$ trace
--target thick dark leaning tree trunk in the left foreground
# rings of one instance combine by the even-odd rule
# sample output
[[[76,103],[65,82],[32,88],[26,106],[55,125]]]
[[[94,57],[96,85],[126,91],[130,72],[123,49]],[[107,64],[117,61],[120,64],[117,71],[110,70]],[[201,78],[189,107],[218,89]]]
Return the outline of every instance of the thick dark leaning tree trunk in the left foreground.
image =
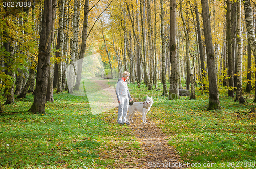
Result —
[[[36,89],[34,103],[28,110],[30,112],[45,113],[46,91],[50,70],[52,33],[56,15],[56,0],[44,2],[42,14],[42,31],[40,34],[38,66],[36,76]]]

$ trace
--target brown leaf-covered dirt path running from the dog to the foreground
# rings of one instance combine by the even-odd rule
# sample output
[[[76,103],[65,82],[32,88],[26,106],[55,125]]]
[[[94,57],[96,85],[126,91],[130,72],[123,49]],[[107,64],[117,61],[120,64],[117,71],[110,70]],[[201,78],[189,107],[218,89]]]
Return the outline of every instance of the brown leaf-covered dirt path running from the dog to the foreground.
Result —
[[[183,161],[180,160],[176,150],[168,145],[168,137],[153,121],[147,118],[147,123],[142,124],[140,113],[136,113],[133,120],[135,123],[131,123],[130,127],[146,154],[140,159],[143,164],[139,168],[184,168],[179,166],[179,162],[182,164]]]

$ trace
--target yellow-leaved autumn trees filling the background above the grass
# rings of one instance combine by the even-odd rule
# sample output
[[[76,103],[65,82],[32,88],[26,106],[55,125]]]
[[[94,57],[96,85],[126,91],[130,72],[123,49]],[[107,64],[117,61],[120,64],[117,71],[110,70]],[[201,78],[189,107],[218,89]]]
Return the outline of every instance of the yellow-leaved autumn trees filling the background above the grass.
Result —
[[[53,101],[52,87],[57,88],[57,93],[79,90],[82,60],[95,53],[100,54],[105,71],[98,69],[92,73],[94,76],[117,78],[122,71],[130,71],[129,82],[139,87],[143,81],[149,90],[157,89],[157,80],[161,80],[163,95],[169,95],[169,99],[178,98],[178,88],[189,90],[190,86],[191,99],[195,99],[195,85],[198,92],[211,95],[214,91],[216,100],[218,86],[225,86],[228,96],[234,96],[238,88],[241,94],[237,94],[236,100],[239,100],[240,83],[246,92],[255,86],[255,61],[248,45],[244,6],[238,2],[209,1],[210,23],[205,24],[201,3],[197,1],[180,1],[175,8],[170,8],[172,2],[169,1],[53,1],[56,5],[52,11],[45,10],[45,17],[52,19],[46,21],[43,20],[43,1],[32,1],[29,7],[8,7],[7,4],[1,10],[1,84],[5,89],[5,104],[14,102],[14,94],[24,98],[27,92],[34,92],[36,76],[44,81],[42,86],[38,85],[41,90],[35,92],[35,100],[40,100],[42,105],[44,99],[36,98]],[[253,1],[251,6],[253,18],[250,19],[255,26]],[[44,22],[49,22],[48,27]],[[207,56],[203,28],[207,24],[211,31],[205,32],[211,32],[212,38],[206,39],[212,39],[214,50],[210,56]],[[47,59],[43,59],[42,64],[40,55]],[[215,64],[214,67],[207,65],[207,57],[214,59],[209,63]],[[49,65],[42,71],[43,75],[37,71],[38,65],[46,64]],[[90,65],[87,68],[90,69]],[[215,69],[215,73],[209,74],[209,69]],[[217,77],[212,79],[215,74]],[[173,88],[169,94],[166,80]],[[182,86],[183,80],[186,84]],[[213,91],[208,90],[209,87]],[[37,110],[34,106],[30,111],[44,112],[44,106]],[[209,109],[216,107],[209,106]]]

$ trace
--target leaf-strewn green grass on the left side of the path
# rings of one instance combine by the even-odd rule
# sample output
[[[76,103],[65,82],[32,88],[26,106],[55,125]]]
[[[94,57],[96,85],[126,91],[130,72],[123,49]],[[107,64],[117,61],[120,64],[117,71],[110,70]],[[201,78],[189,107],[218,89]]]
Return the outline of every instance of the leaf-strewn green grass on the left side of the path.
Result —
[[[54,94],[46,114],[27,113],[33,96],[5,105],[0,116],[1,168],[116,168],[142,154],[117,110],[93,115],[86,96]],[[132,166],[136,161],[129,162]]]

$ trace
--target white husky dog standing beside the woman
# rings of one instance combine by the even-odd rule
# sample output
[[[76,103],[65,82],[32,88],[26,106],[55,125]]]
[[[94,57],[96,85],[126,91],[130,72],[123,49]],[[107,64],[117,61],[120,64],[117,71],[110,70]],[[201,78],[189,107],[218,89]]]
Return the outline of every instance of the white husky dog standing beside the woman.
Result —
[[[136,111],[138,112],[141,112],[142,113],[142,122],[143,123],[146,123],[146,114],[148,111],[150,111],[150,108],[153,104],[153,99],[152,99],[152,96],[151,98],[147,96],[147,99],[145,102],[134,102],[133,105],[129,105],[129,108],[128,108],[128,118],[127,118],[127,121],[129,119],[129,116],[131,115],[131,122],[134,122],[133,121],[133,116],[135,114]]]

